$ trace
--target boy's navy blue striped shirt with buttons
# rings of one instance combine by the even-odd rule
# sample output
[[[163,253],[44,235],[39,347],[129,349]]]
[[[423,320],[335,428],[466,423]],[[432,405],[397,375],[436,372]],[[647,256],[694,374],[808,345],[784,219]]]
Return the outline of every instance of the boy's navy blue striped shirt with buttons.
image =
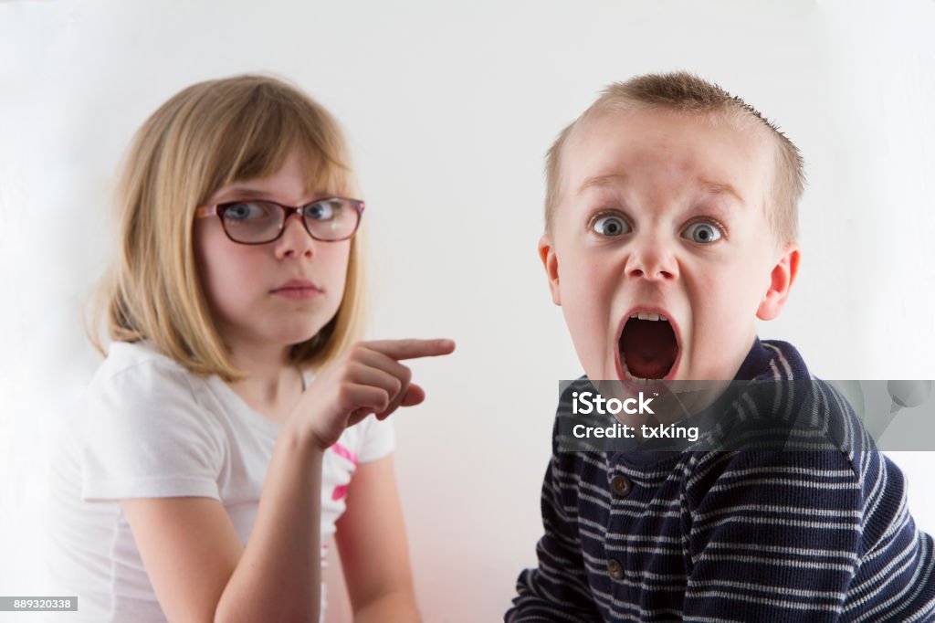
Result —
[[[813,377],[781,341],[755,340],[737,376],[797,379]],[[554,440],[539,567],[520,574],[505,620],[935,620],[932,538],[915,528],[901,471],[835,390],[815,386],[827,419],[846,424],[837,450],[560,452]],[[733,416],[802,408],[783,400],[739,400]]]

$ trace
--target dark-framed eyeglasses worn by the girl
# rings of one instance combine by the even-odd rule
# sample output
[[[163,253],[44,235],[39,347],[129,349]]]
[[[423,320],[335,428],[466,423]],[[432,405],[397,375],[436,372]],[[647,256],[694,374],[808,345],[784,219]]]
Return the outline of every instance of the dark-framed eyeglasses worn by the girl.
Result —
[[[286,220],[298,214],[313,239],[337,242],[354,235],[363,211],[363,201],[340,196],[315,199],[298,208],[267,199],[250,199],[198,208],[194,210],[194,218],[216,214],[227,238],[240,244],[266,244],[279,239]]]

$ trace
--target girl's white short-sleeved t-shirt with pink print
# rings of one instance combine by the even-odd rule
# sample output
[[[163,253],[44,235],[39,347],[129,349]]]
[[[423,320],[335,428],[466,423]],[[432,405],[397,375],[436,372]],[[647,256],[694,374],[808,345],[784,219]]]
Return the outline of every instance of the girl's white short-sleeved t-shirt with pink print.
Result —
[[[165,621],[119,500],[220,500],[246,544],[281,425],[148,342],[112,344],[66,419],[50,454],[49,587],[78,596],[69,620]],[[394,443],[390,423],[371,416],[325,453],[323,563],[356,464]],[[322,596],[324,612],[324,587]]]

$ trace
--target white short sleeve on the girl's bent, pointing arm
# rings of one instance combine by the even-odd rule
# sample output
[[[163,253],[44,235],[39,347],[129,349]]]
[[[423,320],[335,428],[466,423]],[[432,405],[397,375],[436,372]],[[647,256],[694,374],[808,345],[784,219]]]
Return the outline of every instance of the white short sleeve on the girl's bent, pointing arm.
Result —
[[[81,452],[84,500],[220,500],[222,433],[187,375],[169,362],[146,360],[94,379]]]

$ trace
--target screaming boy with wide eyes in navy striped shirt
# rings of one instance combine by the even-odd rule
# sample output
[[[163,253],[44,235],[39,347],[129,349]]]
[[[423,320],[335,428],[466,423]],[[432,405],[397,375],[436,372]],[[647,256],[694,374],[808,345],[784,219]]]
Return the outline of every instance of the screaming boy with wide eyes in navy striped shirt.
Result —
[[[587,379],[812,379],[791,345],[755,333],[798,272],[803,180],[798,149],[712,83],[611,85],[548,154],[539,242]],[[824,415],[853,422],[818,386]],[[734,406],[770,415],[769,403]],[[556,437],[569,411],[566,392]],[[845,432],[850,449],[820,452],[554,441],[539,568],[520,575],[506,620],[931,620],[932,539],[899,470],[862,429]]]

